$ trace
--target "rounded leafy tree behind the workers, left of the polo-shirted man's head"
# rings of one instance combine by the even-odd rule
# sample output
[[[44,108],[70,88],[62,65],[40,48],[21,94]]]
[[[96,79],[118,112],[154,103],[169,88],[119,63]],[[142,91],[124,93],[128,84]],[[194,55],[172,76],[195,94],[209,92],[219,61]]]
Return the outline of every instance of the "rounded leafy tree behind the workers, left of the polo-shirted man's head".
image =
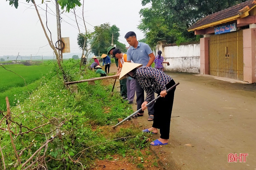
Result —
[[[126,52],[126,45],[118,42],[118,37],[120,36],[119,31],[120,30],[116,25],[110,26],[109,23],[95,26],[92,41],[90,42],[92,46],[91,52],[96,56],[101,56],[102,53],[107,53],[107,48],[111,46],[112,33],[113,43],[116,44],[116,47],[120,48],[122,52]]]

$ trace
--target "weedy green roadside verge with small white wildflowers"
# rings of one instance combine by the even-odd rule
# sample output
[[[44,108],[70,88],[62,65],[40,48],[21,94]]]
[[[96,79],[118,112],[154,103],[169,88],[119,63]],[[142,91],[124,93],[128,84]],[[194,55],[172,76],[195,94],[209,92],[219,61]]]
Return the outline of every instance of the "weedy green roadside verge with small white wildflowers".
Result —
[[[72,80],[80,80],[81,75],[82,79],[99,76],[88,69],[80,72],[78,62],[71,59],[64,63],[63,68]],[[71,90],[65,88],[56,71],[50,71],[37,83],[39,85],[30,96],[25,97],[22,102],[16,101],[15,105],[11,107],[13,115],[18,115],[13,116],[12,120],[22,123],[24,126],[20,129],[20,126],[12,123],[11,130],[14,133],[18,133],[20,130],[25,132],[27,131],[25,126],[33,129],[49,121],[53,123],[35,129],[43,134],[29,132],[22,136],[13,135],[17,150],[27,147],[20,157],[22,162],[30,158],[47,139],[53,138],[52,135],[55,135],[57,131],[60,134],[54,136],[54,140],[48,144],[47,150],[43,148],[39,152],[41,156],[45,154],[47,163],[44,166],[47,166],[48,169],[82,169],[81,164],[74,163],[71,159],[79,159],[83,168],[90,168],[96,159],[112,159],[111,155],[114,154],[124,157],[127,153],[134,152],[134,149],[142,149],[149,145],[145,142],[148,134],[143,134],[132,125],[130,128],[119,127],[119,131],[110,133],[111,126],[118,122],[118,118],[125,118],[133,112],[129,104],[121,102],[119,93],[114,93],[114,96],[111,97],[112,85],[101,85],[101,80],[97,80],[96,85],[88,85],[87,82],[84,82],[71,85],[71,89],[78,90],[77,93],[71,93]],[[15,97],[23,95],[22,92],[17,91],[14,93],[9,91],[9,94],[6,95],[10,98],[13,94],[16,94]],[[0,119],[2,119],[2,115],[0,115]],[[63,123],[61,124],[61,122]],[[61,124],[57,131],[54,130],[55,124]],[[0,127],[5,129],[7,126],[5,122],[2,122]],[[132,137],[111,141],[128,136]],[[1,146],[5,146],[2,148],[2,151],[6,153],[4,155],[5,164],[7,169],[11,169],[17,160],[8,131],[1,130],[0,137],[2,138]],[[61,161],[50,160],[50,158]]]

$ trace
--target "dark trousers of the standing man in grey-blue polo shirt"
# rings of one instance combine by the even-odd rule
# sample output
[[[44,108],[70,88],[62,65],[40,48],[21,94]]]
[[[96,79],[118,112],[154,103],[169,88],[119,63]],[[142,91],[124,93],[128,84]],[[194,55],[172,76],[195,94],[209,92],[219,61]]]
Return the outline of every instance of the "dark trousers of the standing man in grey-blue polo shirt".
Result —
[[[144,90],[138,83],[137,79],[135,79],[135,91],[136,91],[136,97],[137,97],[136,98],[137,110],[139,110],[141,108],[141,104],[145,101],[145,98],[144,98]],[[152,95],[151,100],[153,100],[153,99],[155,99],[154,93]],[[140,113],[144,113],[144,111],[141,111]],[[148,114],[154,115],[154,103],[148,107]]]

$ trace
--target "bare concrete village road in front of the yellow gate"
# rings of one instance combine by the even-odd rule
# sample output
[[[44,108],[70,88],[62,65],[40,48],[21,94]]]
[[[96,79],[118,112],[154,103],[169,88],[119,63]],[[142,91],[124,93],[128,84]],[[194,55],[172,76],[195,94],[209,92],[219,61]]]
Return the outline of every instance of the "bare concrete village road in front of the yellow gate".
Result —
[[[256,85],[168,74],[180,82],[175,91],[170,143],[153,148],[157,154],[164,153],[166,169],[256,170]],[[143,128],[152,125],[147,114],[135,122]],[[152,137],[157,139],[159,134]],[[249,156],[245,163],[229,163],[230,153]]]

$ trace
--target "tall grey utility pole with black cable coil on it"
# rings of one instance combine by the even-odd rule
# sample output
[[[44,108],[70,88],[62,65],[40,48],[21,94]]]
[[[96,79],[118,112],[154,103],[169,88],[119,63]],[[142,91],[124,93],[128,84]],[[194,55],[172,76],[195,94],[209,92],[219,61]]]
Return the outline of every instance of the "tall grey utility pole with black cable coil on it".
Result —
[[[58,54],[59,54],[59,60],[62,61],[63,63],[63,56],[62,56],[62,43],[61,43],[61,20],[60,20],[60,10],[59,10],[59,3],[56,0],[56,18],[57,18],[57,39],[58,39],[58,43],[57,43],[57,48],[59,48],[58,50]]]

